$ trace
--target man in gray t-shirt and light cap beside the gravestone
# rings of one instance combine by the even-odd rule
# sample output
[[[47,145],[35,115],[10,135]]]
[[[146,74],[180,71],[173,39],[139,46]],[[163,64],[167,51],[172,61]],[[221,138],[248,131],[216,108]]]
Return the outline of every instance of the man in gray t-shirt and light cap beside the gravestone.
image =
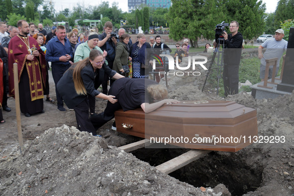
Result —
[[[287,49],[288,41],[283,39],[284,30],[278,29],[275,32],[275,39],[267,39],[263,44],[261,44],[258,48],[258,58],[260,59],[260,79],[262,81],[265,77],[266,70],[266,59],[272,59],[278,57],[277,61],[277,70],[276,76],[278,74],[280,59],[283,55],[283,52]],[[262,54],[262,49],[267,48],[264,54]],[[268,79],[272,78],[273,74],[273,66],[270,66]]]

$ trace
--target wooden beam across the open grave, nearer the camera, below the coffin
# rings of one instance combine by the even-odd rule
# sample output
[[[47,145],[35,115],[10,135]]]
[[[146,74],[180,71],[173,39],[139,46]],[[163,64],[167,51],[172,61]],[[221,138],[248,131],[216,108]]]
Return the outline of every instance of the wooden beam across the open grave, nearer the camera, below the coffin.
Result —
[[[172,160],[169,160],[157,167],[157,170],[161,171],[162,173],[169,174],[177,169],[188,165],[189,163],[195,161],[196,159],[201,158],[205,154],[211,152],[211,150],[190,150]]]

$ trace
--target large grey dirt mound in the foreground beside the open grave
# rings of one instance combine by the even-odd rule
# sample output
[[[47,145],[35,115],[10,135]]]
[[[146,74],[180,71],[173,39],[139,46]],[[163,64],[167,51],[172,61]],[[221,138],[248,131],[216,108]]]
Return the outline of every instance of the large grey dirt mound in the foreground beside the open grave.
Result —
[[[0,195],[206,195],[162,174],[101,137],[64,125],[45,131],[18,157],[1,159]]]

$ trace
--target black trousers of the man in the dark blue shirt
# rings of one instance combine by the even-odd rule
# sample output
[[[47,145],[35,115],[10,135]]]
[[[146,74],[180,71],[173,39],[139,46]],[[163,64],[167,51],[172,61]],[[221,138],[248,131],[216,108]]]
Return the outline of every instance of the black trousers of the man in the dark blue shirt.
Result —
[[[58,90],[57,90],[57,83],[63,76],[64,72],[68,70],[68,68],[71,67],[71,64],[68,64],[66,66],[63,65],[57,65],[57,64],[51,64],[52,68],[52,76],[55,83],[55,92],[56,92],[56,99],[57,99],[57,107],[63,107],[63,99],[60,96]]]

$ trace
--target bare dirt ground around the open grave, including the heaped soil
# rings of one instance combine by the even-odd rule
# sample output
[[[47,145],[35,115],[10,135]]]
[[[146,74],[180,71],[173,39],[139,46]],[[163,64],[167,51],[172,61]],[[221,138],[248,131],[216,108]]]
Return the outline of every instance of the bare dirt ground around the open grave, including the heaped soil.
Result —
[[[55,99],[52,79],[50,85],[51,98]],[[209,92],[213,91],[211,88]],[[56,104],[44,101],[45,113],[31,117],[21,114],[24,147],[20,154],[15,103],[9,98],[12,111],[3,111],[6,123],[0,125],[0,195],[294,194],[294,94],[256,100],[242,93],[224,99],[186,85],[169,96],[179,100],[234,100],[255,108],[259,136],[285,136],[285,142],[255,143],[236,153],[213,151],[165,175],[154,166],[179,156],[185,149],[126,153],[116,147],[140,138],[112,131],[112,122],[98,130],[102,137],[80,132],[72,127],[76,126],[74,111],[60,112]],[[96,112],[105,105],[106,101],[97,99]]]

